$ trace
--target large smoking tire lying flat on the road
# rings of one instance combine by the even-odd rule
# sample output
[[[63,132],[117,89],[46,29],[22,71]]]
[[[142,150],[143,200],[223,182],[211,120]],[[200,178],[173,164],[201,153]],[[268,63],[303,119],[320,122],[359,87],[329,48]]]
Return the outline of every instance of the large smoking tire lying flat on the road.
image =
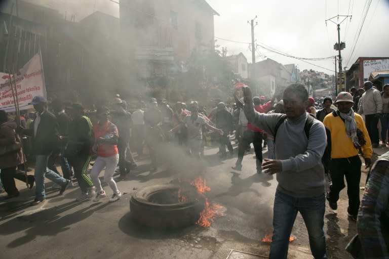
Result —
[[[132,218],[154,228],[180,228],[195,224],[204,199],[191,185],[154,185],[135,192],[130,199]]]

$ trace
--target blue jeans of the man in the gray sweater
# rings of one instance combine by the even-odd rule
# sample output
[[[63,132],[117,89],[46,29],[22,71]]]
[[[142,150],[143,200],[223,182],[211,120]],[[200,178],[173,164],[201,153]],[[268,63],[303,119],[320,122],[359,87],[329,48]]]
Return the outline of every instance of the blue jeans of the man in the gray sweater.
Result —
[[[297,212],[304,219],[308,230],[309,246],[316,259],[327,258],[324,233],[325,194],[319,197],[294,198],[277,190],[274,200],[273,240],[269,258],[287,258],[289,237]]]

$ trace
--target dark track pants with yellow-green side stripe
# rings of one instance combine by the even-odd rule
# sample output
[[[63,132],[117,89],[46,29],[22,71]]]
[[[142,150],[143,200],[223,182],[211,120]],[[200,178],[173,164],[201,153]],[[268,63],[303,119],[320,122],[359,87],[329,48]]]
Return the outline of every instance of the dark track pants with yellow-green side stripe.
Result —
[[[71,157],[68,160],[71,166],[73,166],[74,176],[77,179],[77,183],[79,183],[81,191],[86,193],[88,188],[93,187],[91,179],[86,175],[91,157],[89,155]]]

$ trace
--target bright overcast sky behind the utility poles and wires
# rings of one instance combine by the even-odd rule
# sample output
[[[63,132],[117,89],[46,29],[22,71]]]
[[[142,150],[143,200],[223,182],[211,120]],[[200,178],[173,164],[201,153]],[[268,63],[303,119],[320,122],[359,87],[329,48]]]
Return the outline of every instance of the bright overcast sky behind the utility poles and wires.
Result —
[[[247,20],[258,25],[255,38],[267,46],[284,53],[303,58],[322,58],[337,55],[333,49],[337,41],[336,24],[325,23],[326,19],[339,15],[352,15],[340,25],[340,40],[345,41],[342,51],[343,68],[351,66],[358,57],[389,57],[389,0],[373,0],[354,54],[354,37],[360,26],[366,0],[207,0],[220,14],[215,16],[215,36],[235,41],[251,42],[251,29]],[[348,8],[349,7],[349,8]],[[339,11],[338,11],[339,10]],[[336,22],[337,20],[334,19]],[[339,20],[340,22],[341,20]],[[242,52],[251,63],[248,44],[238,44],[218,39],[217,44],[227,47],[228,55]],[[262,57],[259,57],[262,55]],[[263,57],[282,64],[295,63],[299,69],[314,69],[326,73],[329,70],[315,67],[302,61],[257,48],[256,61]],[[348,61],[348,62],[347,62]],[[331,70],[334,60],[309,61]]]

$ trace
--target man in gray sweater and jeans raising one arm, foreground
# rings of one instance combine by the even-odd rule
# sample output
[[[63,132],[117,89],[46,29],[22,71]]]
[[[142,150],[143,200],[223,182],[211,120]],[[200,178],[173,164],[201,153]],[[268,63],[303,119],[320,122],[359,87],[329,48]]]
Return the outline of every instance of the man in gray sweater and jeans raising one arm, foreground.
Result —
[[[244,108],[248,121],[275,136],[277,159],[265,159],[262,169],[269,175],[277,174],[274,201],[273,240],[269,258],[287,258],[289,237],[297,212],[304,219],[309,245],[315,258],[327,258],[324,233],[325,180],[321,162],[327,144],[325,127],[314,120],[309,137],[304,132],[308,113],[305,112],[308,93],[302,84],[292,84],[284,92],[286,119],[275,128],[282,114],[264,114],[254,110],[251,90],[244,91]]]

